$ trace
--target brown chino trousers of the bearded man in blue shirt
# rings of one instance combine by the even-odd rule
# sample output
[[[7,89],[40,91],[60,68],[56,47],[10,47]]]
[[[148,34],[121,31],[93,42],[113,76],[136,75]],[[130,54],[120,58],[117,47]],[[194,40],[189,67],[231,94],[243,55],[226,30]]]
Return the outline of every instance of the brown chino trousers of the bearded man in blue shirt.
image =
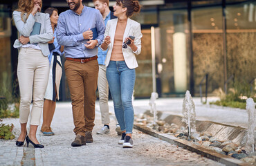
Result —
[[[71,93],[74,132],[85,136],[85,131],[92,131],[94,127],[98,60],[84,64],[66,60],[64,68]]]

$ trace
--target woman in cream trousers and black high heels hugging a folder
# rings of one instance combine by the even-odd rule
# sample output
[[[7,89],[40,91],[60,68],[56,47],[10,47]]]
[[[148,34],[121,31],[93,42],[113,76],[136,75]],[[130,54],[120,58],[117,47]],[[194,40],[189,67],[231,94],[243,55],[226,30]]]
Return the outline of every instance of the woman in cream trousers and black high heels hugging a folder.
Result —
[[[19,80],[20,107],[19,122],[21,134],[16,145],[43,148],[36,138],[36,131],[42,114],[44,93],[48,82],[48,42],[53,39],[53,30],[48,14],[39,12],[42,0],[19,0],[18,9],[12,13],[19,39],[14,47],[19,48],[17,76]],[[35,28],[37,26],[37,28]],[[33,96],[33,99],[32,99]],[[30,113],[30,102],[33,107]],[[30,130],[27,136],[26,124],[30,115]]]

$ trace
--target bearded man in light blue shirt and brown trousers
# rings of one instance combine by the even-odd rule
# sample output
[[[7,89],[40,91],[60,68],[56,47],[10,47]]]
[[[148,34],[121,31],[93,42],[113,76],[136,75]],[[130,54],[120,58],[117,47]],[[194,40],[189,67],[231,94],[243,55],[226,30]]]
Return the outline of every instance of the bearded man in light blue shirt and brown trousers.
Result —
[[[60,14],[57,42],[64,46],[66,80],[72,100],[75,140],[72,146],[93,142],[95,91],[98,81],[98,45],[105,25],[100,12],[82,5],[82,0],[66,0],[70,10]],[[97,34],[98,33],[98,34]]]

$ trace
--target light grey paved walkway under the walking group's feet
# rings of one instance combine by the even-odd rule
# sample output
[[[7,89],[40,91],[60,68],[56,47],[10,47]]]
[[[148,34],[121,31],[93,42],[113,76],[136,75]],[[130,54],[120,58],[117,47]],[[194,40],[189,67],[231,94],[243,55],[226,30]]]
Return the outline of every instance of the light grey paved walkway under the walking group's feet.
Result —
[[[135,113],[143,113],[149,109],[148,102],[149,100],[135,100]],[[164,99],[158,100],[157,108],[160,109],[165,102],[167,101]],[[113,113],[113,103],[109,103]],[[19,119],[3,119],[3,123],[15,124],[15,136],[19,135]],[[0,140],[0,165],[222,165],[136,129],[133,135],[134,148],[123,149],[118,145],[120,136],[114,131],[115,124],[112,116],[111,133],[96,134],[102,127],[97,102],[94,142],[82,147],[71,147],[75,138],[71,103],[58,102],[52,124],[55,136],[46,137],[37,132],[37,138],[45,148],[17,147],[16,138]]]

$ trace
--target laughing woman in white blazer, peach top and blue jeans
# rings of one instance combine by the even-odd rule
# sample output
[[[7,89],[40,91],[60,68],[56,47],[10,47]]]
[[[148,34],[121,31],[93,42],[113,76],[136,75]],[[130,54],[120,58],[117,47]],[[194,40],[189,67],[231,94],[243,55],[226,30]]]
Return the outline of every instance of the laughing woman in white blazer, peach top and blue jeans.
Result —
[[[105,64],[107,80],[113,99],[116,118],[122,130],[118,144],[133,147],[131,133],[134,126],[134,108],[132,94],[135,84],[135,68],[138,67],[136,55],[141,50],[140,24],[129,19],[134,12],[140,12],[140,4],[133,0],[117,0],[113,6],[113,15],[117,19],[107,22],[104,42],[100,46],[107,50]],[[132,37],[130,37],[132,36]]]

